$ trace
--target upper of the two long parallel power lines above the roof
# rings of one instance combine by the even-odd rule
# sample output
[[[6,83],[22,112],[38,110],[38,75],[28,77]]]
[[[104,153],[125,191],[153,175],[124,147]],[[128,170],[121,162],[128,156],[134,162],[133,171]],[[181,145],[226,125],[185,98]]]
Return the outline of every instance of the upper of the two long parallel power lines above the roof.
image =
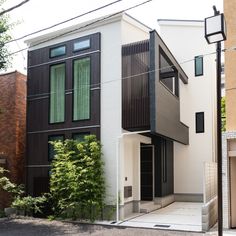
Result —
[[[80,14],[80,15],[78,15],[78,16],[74,16],[74,17],[72,17],[72,18],[69,18],[69,19],[67,19],[67,20],[64,20],[64,21],[58,22],[58,23],[56,23],[56,24],[50,25],[50,26],[45,27],[45,28],[43,28],[43,29],[36,30],[36,31],[31,32],[31,33],[29,33],[29,34],[25,34],[25,35],[23,35],[23,36],[20,36],[19,38],[15,38],[15,39],[13,39],[13,40],[9,40],[9,41],[6,42],[5,44],[11,43],[11,42],[14,42],[14,41],[18,41],[18,40],[21,40],[21,39],[24,39],[24,38],[29,37],[29,36],[32,36],[32,35],[34,35],[34,34],[41,33],[41,32],[43,32],[43,31],[45,31],[45,30],[52,29],[52,28],[54,28],[54,27],[56,27],[56,26],[65,24],[65,23],[67,23],[67,22],[70,22],[70,21],[72,21],[72,20],[78,19],[78,18],[80,18],[80,17],[82,17],[82,16],[88,15],[88,14],[93,13],[93,12],[95,12],[95,11],[104,9],[104,8],[106,8],[106,7],[109,7],[109,6],[111,6],[111,5],[114,5],[115,3],[118,3],[118,2],[121,2],[121,1],[123,1],[123,0],[116,0],[116,1],[114,1],[114,2],[108,3],[108,4],[103,5],[103,6],[101,6],[101,7],[95,8],[95,9],[90,10],[90,11],[87,11],[87,12],[85,12],[85,13],[82,13],[82,14]]]

